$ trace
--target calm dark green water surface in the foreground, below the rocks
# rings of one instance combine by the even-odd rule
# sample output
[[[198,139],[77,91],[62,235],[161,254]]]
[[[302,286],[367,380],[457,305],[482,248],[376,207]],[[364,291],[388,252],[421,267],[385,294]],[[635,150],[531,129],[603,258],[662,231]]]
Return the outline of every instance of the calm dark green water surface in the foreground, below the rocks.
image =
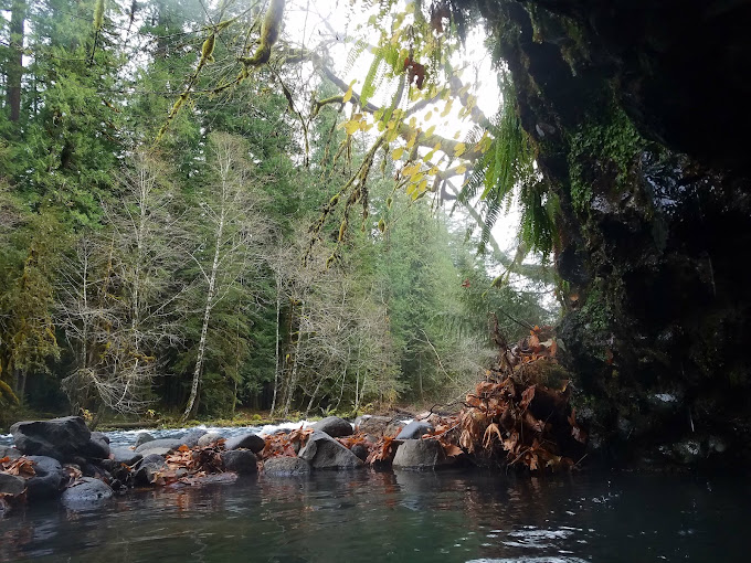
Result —
[[[747,480],[319,472],[0,520],[0,561],[748,562]]]

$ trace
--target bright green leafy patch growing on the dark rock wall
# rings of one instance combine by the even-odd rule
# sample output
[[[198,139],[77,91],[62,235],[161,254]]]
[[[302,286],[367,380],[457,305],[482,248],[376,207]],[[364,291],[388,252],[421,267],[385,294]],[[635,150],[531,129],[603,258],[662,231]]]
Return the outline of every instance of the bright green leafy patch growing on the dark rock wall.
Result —
[[[606,115],[590,115],[569,138],[571,200],[584,212],[593,196],[595,181],[616,193],[628,189],[630,170],[646,146],[631,119],[617,106]]]

